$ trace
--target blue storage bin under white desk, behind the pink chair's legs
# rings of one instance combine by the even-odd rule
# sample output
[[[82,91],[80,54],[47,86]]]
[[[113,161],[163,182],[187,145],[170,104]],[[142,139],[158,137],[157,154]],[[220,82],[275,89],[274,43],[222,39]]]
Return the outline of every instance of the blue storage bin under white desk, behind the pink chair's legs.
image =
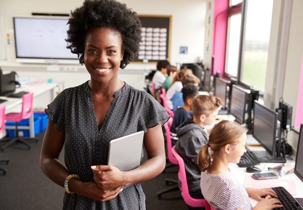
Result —
[[[5,123],[6,126],[15,126],[15,122],[7,121]],[[29,119],[22,120],[21,122],[18,123],[18,126],[28,126],[29,125]],[[41,117],[35,117],[34,115],[34,133],[35,135],[40,133],[41,129]],[[24,136],[24,137],[29,137],[29,129],[18,129],[19,133],[23,132],[23,135],[19,136]],[[7,133],[9,137],[15,137],[15,129],[7,129]]]

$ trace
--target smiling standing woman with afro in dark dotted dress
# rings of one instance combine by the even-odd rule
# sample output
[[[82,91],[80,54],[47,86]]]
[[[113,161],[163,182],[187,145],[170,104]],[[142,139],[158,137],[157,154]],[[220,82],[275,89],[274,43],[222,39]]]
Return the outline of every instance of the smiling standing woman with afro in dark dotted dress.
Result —
[[[65,89],[48,105],[41,169],[64,187],[63,209],[145,209],[139,183],[165,167],[161,126],[169,116],[151,95],[118,77],[138,52],[140,21],[125,4],[86,0],[68,24],[68,48],[90,80]],[[140,130],[148,159],[128,172],[108,166],[109,141]],[[65,165],[58,160],[63,145]]]

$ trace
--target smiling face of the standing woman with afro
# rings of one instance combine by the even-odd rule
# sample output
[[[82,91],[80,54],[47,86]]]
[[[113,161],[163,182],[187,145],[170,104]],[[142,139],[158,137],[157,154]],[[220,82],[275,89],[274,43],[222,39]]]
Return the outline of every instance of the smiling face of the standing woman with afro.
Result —
[[[95,28],[86,35],[84,64],[91,80],[108,82],[117,77],[122,59],[122,38],[118,31]]]

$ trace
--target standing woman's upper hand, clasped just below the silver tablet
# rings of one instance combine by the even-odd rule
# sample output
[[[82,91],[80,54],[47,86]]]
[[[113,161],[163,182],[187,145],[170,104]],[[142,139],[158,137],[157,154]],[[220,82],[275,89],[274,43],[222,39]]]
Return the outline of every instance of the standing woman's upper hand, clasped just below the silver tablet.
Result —
[[[112,190],[125,185],[125,176],[114,166],[91,166],[93,179],[102,190]]]

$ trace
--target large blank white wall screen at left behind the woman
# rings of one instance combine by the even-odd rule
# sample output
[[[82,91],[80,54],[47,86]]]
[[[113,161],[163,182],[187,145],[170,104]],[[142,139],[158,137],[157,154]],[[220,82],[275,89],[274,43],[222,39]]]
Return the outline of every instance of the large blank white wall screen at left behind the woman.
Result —
[[[16,58],[78,59],[67,49],[68,18],[14,17]]]

